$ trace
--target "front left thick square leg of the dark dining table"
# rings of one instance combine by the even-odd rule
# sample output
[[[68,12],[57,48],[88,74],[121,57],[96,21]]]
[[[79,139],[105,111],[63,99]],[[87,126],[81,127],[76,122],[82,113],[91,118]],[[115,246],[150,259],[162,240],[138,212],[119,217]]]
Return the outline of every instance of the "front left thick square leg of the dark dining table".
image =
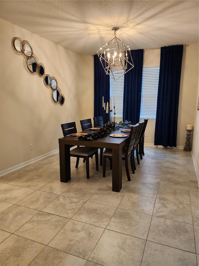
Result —
[[[65,183],[71,179],[70,147],[59,143],[60,181]]]

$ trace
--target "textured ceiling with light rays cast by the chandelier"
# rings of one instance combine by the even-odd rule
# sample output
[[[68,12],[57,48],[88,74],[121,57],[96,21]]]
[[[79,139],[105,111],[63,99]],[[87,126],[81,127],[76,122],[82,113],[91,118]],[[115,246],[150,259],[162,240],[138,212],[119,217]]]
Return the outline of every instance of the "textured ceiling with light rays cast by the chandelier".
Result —
[[[96,54],[112,27],[132,50],[198,42],[195,0],[1,0],[0,17],[80,55]]]

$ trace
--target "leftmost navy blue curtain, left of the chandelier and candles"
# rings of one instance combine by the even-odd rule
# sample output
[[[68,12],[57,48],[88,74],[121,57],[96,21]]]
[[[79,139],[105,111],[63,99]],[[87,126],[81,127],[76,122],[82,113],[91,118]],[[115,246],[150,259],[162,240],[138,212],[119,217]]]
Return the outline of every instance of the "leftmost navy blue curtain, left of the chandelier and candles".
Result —
[[[94,117],[103,116],[103,96],[104,102],[109,102],[110,76],[106,75],[98,55],[94,55]]]

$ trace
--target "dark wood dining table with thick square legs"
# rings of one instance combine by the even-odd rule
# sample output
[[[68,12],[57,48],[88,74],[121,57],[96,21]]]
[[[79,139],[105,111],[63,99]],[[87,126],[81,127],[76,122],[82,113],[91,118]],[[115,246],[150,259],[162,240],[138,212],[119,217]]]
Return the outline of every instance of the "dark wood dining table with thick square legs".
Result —
[[[124,128],[121,128],[124,129]],[[92,130],[85,130],[84,133],[93,133]],[[110,134],[120,133],[120,130],[110,132]],[[123,133],[129,135],[129,133]],[[74,136],[59,138],[59,161],[60,161],[60,181],[67,182],[71,179],[70,148],[72,146],[85,146],[96,148],[112,149],[112,191],[119,192],[122,188],[122,147],[127,143],[128,137],[113,138],[109,135],[97,138],[92,141],[78,140]]]

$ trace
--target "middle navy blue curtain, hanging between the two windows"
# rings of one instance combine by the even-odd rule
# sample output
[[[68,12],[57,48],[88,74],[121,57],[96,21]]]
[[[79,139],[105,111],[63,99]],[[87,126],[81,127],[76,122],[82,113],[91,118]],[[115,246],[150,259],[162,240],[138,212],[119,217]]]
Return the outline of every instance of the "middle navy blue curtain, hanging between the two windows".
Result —
[[[123,121],[128,120],[136,124],[140,121],[143,49],[130,52],[134,67],[124,75]]]

